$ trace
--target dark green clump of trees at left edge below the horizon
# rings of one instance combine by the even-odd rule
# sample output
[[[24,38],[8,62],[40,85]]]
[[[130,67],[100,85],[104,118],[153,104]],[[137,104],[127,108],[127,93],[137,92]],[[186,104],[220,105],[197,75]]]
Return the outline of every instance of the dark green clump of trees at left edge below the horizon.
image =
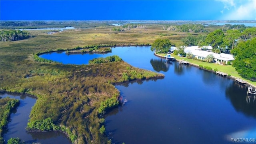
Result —
[[[0,41],[16,41],[16,40],[23,40],[29,38],[31,34],[26,31],[21,30],[1,30],[0,31],[1,39]]]

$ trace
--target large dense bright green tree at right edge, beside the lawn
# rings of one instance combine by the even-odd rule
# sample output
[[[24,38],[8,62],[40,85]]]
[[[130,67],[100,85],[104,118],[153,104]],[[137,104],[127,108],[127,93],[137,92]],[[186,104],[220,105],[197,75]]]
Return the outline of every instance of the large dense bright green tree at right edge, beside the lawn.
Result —
[[[249,80],[256,80],[256,38],[239,42],[232,54],[235,56],[233,66],[238,73]]]

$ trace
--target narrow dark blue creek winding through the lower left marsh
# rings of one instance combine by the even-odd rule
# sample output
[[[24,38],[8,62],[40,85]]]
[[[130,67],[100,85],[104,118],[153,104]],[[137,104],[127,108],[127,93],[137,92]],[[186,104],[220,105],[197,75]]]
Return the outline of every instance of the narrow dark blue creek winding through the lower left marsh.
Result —
[[[4,140],[19,137],[25,144],[33,142],[40,144],[71,144],[72,142],[67,136],[61,132],[26,132],[26,126],[32,106],[36,103],[36,99],[20,94],[1,94],[1,97],[16,98],[20,100],[20,105],[10,116],[7,132],[4,134]]]

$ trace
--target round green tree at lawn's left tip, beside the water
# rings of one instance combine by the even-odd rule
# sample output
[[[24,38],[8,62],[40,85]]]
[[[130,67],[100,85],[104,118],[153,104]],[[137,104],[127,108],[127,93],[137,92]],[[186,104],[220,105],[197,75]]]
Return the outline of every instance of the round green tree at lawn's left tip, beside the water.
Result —
[[[168,38],[166,38],[166,39],[159,38],[154,41],[150,50],[155,51],[155,52],[166,53],[166,52],[168,52],[168,50],[171,46],[172,46],[172,44]]]

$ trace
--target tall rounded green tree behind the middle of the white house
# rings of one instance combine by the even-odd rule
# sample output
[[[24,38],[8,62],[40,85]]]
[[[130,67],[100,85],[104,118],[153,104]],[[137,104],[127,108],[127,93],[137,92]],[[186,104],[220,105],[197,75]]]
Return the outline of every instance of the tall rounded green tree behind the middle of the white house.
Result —
[[[222,30],[215,30],[206,36],[205,42],[206,44],[210,44],[213,49],[222,45],[224,38],[224,32]]]

